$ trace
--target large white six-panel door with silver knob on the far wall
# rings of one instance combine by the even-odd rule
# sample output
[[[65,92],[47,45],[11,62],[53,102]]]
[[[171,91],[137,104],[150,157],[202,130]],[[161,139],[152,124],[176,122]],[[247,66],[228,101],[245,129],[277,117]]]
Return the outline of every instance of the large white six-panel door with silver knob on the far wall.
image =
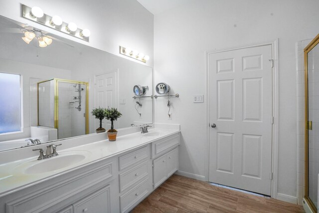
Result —
[[[271,194],[272,46],[208,58],[209,182]]]

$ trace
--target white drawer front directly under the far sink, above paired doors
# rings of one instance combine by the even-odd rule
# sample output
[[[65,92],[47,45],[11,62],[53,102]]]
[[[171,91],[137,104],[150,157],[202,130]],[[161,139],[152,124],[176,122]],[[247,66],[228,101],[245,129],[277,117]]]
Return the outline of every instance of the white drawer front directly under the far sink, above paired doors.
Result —
[[[152,158],[156,158],[161,154],[171,150],[173,147],[179,145],[180,137],[179,134],[169,138],[163,139],[153,143],[152,147]]]

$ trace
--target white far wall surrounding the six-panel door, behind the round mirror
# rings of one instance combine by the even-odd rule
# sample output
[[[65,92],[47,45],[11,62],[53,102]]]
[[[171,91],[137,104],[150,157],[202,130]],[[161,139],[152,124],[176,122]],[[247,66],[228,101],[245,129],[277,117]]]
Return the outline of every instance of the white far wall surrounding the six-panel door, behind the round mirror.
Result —
[[[171,99],[172,120],[167,99],[155,100],[155,121],[181,125],[179,169],[199,178],[207,174],[206,103],[192,103],[192,95],[206,95],[205,51],[279,38],[278,193],[296,198],[295,43],[319,33],[319,1],[188,2],[154,18],[155,84],[164,81],[180,94]]]

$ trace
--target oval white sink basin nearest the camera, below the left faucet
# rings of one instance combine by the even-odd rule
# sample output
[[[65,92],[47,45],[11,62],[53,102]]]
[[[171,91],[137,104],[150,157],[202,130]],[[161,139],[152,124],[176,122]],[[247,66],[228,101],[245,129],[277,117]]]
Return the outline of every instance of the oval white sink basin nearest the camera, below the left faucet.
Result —
[[[44,160],[29,160],[23,162],[14,168],[16,173],[27,175],[40,174],[59,170],[83,161],[88,157],[90,152],[87,151],[72,151],[61,152],[58,156]]]

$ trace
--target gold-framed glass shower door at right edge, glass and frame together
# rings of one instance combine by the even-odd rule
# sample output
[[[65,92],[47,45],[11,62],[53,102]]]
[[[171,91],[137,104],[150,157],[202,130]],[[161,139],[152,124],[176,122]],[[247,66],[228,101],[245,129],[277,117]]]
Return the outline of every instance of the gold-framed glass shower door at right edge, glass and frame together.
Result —
[[[306,165],[305,199],[318,212],[319,178],[319,34],[305,48]]]

